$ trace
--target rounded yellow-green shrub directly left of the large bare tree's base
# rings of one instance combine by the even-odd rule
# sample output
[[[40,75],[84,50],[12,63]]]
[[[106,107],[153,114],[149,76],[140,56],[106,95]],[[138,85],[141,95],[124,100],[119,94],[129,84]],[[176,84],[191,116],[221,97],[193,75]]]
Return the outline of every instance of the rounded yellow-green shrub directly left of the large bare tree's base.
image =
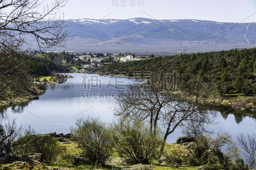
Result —
[[[114,122],[111,129],[116,151],[131,157],[136,163],[148,164],[152,158],[157,158],[164,144],[159,128],[153,136],[149,125],[138,119]]]

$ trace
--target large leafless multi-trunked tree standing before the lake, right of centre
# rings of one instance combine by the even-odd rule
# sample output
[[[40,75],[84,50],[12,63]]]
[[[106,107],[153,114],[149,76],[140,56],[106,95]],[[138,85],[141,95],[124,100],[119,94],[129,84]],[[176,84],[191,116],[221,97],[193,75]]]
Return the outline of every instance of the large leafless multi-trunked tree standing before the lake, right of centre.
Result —
[[[164,141],[176,128],[191,120],[214,124],[217,113],[208,109],[215,94],[212,86],[199,78],[177,82],[177,74],[171,68],[168,64],[150,65],[136,73],[127,91],[115,96],[114,115],[148,121],[153,136],[156,127],[162,125]]]

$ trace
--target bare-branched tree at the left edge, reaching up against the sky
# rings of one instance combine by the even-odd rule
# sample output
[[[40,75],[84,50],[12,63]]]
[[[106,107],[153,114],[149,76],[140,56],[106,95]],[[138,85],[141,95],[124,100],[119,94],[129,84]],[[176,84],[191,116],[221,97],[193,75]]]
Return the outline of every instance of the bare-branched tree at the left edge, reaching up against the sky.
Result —
[[[60,7],[66,0],[55,0],[52,6],[43,6],[43,0],[0,0],[0,94],[10,95],[17,85],[30,82],[28,60],[34,37],[40,51],[63,46],[67,33],[62,32],[63,14]],[[39,10],[42,9],[42,10]],[[26,38],[27,37],[27,38]],[[35,45],[35,44],[34,44]]]

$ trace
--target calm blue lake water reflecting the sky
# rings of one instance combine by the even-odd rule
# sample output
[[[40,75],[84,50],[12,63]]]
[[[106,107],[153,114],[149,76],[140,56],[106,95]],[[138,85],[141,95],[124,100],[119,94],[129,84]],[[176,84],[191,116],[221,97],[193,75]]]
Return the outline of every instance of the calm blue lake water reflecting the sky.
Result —
[[[68,78],[63,84],[38,85],[45,90],[39,95],[39,100],[25,102],[20,106],[2,107],[1,120],[16,117],[18,124],[30,124],[38,132],[56,131],[57,134],[66,134],[69,127],[74,125],[76,117],[81,115],[100,116],[103,121],[114,119],[111,108],[115,106],[115,99],[111,96],[118,91],[116,86],[122,89],[131,79],[94,74],[66,74],[75,78]],[[94,97],[88,99],[93,95]],[[228,111],[229,109],[230,107],[215,108],[222,114],[216,119],[220,123],[213,127],[216,131],[229,131],[234,137],[240,132],[256,131],[256,114],[232,109]],[[179,136],[182,134],[176,129],[167,138],[167,143],[174,142]]]

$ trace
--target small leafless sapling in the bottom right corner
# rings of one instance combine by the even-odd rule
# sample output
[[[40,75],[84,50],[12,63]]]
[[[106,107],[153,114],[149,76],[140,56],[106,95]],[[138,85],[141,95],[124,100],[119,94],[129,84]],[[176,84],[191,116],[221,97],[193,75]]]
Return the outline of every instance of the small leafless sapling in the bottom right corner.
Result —
[[[256,166],[256,135],[248,134],[243,135],[240,133],[237,136],[237,141],[241,145],[244,151],[246,162],[249,164],[250,169],[254,169]]]

